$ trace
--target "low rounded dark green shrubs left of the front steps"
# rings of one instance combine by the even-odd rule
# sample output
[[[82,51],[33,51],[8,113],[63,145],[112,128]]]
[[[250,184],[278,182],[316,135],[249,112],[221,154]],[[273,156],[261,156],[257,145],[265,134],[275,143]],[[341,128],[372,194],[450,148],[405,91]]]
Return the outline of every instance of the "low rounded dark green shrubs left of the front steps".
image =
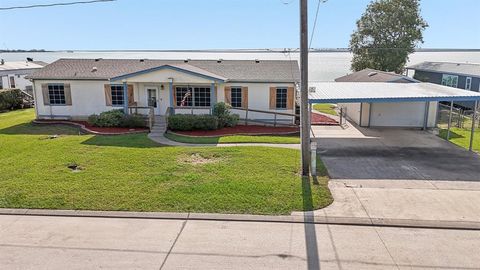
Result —
[[[125,115],[122,110],[102,112],[100,115],[92,114],[88,123],[96,127],[145,127],[145,119],[139,114]]]

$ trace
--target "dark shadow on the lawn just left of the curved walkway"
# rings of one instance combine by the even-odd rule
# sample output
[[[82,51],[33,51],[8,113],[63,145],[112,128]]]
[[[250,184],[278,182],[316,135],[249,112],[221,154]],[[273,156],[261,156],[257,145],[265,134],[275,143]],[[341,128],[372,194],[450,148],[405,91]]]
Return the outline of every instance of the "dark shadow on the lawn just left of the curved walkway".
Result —
[[[161,145],[150,140],[147,134],[96,135],[82,142],[85,145],[115,146],[128,148],[153,148]]]

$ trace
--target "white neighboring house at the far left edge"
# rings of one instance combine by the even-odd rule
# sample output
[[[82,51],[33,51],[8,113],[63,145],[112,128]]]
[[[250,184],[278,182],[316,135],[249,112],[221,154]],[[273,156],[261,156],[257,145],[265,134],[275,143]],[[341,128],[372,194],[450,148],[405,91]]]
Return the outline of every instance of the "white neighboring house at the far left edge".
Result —
[[[32,82],[25,76],[43,68],[46,63],[39,61],[5,62],[0,60],[0,89],[17,88],[32,95]]]

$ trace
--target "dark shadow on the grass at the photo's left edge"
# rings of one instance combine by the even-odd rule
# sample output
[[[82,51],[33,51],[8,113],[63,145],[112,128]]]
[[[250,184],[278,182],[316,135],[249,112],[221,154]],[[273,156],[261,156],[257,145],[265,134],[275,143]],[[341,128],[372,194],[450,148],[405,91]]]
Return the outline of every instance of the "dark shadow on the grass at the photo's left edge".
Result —
[[[34,124],[31,122],[0,129],[5,135],[79,135],[80,128],[62,124]]]

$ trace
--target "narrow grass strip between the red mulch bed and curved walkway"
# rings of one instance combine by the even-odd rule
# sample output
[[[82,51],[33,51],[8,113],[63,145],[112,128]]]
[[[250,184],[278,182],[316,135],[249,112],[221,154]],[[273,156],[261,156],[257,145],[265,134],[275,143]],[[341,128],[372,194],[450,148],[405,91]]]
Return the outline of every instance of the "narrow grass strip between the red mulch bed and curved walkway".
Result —
[[[190,137],[182,136],[178,134],[166,133],[165,137],[172,141],[182,143],[194,143],[194,144],[218,144],[218,143],[283,143],[283,144],[296,144],[300,143],[300,137],[293,135],[283,136],[219,136],[219,137]]]

